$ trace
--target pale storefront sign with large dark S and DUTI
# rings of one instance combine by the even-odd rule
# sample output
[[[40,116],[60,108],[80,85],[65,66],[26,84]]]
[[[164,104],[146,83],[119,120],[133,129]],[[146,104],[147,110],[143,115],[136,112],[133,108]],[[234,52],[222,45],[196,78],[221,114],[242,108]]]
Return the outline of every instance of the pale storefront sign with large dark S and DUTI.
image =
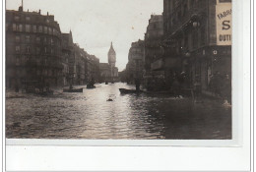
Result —
[[[232,5],[219,3],[216,6],[217,45],[232,43]]]

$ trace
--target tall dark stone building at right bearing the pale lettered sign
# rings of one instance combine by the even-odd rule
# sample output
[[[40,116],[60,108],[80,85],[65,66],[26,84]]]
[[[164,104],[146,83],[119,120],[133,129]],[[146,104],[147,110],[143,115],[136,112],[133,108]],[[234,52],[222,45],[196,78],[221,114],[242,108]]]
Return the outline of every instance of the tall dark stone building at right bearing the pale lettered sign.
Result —
[[[230,78],[231,0],[163,0],[163,30],[166,80],[207,93],[213,76]]]

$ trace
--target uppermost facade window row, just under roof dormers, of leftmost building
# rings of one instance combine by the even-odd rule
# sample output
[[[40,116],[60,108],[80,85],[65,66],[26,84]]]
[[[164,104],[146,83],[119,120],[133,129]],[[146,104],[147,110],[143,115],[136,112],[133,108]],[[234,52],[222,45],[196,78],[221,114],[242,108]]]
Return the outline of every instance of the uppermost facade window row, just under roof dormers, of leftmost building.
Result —
[[[50,27],[28,25],[28,24],[13,24],[13,31],[26,31],[26,32],[40,32],[48,33],[53,35],[58,35],[60,32],[57,29],[52,29]]]

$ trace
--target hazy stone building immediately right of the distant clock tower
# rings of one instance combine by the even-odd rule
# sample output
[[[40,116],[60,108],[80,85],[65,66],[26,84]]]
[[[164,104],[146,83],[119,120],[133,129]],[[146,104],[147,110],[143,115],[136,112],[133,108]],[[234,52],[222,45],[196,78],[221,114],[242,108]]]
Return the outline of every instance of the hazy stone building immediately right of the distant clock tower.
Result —
[[[135,80],[142,80],[144,72],[144,40],[132,42],[126,65],[127,82],[134,84]]]

